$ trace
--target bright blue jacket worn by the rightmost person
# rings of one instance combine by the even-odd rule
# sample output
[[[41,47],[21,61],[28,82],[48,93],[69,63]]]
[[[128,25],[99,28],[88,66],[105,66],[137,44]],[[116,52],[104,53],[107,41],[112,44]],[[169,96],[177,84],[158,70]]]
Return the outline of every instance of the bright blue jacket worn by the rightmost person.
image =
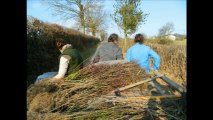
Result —
[[[152,48],[144,44],[136,43],[127,50],[126,54],[127,61],[135,61],[142,69],[145,69],[147,73],[150,72],[150,57],[154,61],[154,70],[158,70],[160,66],[160,57]]]

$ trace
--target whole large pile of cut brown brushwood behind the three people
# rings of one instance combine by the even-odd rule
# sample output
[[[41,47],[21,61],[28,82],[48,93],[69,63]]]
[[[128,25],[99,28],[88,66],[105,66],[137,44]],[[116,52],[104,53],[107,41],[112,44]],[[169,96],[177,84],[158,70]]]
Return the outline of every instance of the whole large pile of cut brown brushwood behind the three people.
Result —
[[[186,119],[180,100],[126,100],[150,95],[139,85],[115,96],[113,91],[149,78],[134,63],[90,65],[61,80],[46,79],[27,89],[28,120]],[[144,92],[147,91],[147,92]],[[131,94],[127,94],[131,93]]]

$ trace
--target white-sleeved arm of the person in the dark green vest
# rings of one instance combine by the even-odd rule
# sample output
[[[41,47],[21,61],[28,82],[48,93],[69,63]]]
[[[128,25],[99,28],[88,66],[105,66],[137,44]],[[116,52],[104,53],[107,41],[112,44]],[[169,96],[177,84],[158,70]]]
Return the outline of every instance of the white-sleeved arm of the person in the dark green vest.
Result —
[[[71,57],[68,56],[68,55],[62,55],[61,56],[58,74],[56,76],[54,76],[53,78],[60,79],[60,78],[63,78],[65,76],[70,59],[71,59]]]

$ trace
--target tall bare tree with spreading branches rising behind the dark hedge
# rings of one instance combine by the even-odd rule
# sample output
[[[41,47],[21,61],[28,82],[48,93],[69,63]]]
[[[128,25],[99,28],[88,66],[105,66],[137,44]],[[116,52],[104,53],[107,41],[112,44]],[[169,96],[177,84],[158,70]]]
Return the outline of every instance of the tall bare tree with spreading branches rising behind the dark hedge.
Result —
[[[53,15],[59,15],[79,22],[85,34],[85,12],[92,8],[96,0],[46,0],[50,8],[54,10]]]

